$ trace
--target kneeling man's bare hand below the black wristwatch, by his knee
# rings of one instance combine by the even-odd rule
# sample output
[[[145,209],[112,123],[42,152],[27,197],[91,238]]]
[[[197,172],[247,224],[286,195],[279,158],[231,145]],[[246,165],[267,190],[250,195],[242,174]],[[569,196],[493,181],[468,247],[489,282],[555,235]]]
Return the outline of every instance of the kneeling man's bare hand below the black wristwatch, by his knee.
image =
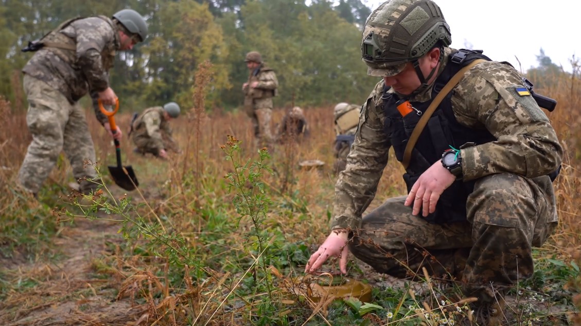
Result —
[[[436,211],[437,201],[440,195],[456,180],[450,171],[448,171],[442,162],[437,161],[430,166],[411,187],[404,204],[410,206],[413,204],[412,214],[417,215],[419,209],[422,209],[422,216],[428,216],[428,213]]]

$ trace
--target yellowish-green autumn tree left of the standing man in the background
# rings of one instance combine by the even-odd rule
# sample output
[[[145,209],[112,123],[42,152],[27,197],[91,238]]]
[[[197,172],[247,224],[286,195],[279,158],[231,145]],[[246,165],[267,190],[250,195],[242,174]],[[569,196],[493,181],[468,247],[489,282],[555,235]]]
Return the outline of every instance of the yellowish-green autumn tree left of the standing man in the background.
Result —
[[[185,107],[192,106],[196,68],[210,60],[215,74],[207,105],[216,105],[221,90],[231,87],[224,68],[229,49],[224,46],[222,29],[214,22],[208,5],[193,0],[171,2],[156,15],[163,21],[159,35],[153,35],[142,49],[148,63],[143,67],[146,102],[172,99]]]

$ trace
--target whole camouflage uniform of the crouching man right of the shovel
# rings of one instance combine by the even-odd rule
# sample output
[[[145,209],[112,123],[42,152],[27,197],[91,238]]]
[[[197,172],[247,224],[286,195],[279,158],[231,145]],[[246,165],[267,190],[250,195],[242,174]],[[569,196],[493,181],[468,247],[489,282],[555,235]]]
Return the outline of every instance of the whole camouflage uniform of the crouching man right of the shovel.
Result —
[[[165,112],[160,106],[146,108],[133,122],[131,139],[139,153],[158,156],[160,150],[177,151],[169,121],[164,117]]]

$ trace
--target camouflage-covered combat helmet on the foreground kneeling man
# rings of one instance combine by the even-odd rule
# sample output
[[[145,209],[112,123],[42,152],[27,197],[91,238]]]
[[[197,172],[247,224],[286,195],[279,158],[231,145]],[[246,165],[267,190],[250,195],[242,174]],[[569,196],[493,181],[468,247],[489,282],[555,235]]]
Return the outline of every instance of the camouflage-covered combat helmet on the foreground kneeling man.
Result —
[[[417,60],[438,41],[449,46],[452,38],[450,27],[436,3],[431,0],[389,0],[379,5],[365,22],[361,57],[368,66],[367,74],[374,77],[399,74],[411,61],[420,81],[425,84],[429,77],[424,78],[421,74]],[[440,55],[440,60],[442,57]]]

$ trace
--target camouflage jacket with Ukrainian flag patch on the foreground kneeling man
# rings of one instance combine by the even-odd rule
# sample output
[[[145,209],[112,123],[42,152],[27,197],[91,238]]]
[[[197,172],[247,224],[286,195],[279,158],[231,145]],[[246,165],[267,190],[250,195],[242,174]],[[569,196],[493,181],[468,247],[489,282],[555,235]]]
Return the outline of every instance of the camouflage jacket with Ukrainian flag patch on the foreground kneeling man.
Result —
[[[450,52],[446,49],[442,65]],[[509,92],[515,86],[522,87],[517,71],[507,64],[486,61],[472,67],[453,89],[451,104],[457,122],[469,128],[485,128],[497,139],[462,148],[465,181],[501,172],[535,178],[555,171],[561,164],[563,149],[547,116],[530,96],[519,98]],[[335,186],[332,229],[360,226],[388,162],[390,138],[384,128],[383,87],[382,80],[361,110],[347,167]],[[410,102],[430,100],[431,88],[410,98]]]

